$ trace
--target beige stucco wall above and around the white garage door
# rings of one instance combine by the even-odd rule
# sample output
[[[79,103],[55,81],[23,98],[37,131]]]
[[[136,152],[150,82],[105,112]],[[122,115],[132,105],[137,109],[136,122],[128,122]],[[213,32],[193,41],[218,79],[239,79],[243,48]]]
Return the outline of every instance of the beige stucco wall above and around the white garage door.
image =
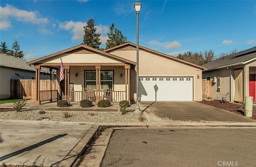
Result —
[[[115,50],[110,52],[111,54],[124,57],[125,59],[136,62],[136,50]],[[136,69],[136,67],[135,67]],[[134,71],[136,75],[136,71]],[[197,79],[199,75],[199,79]],[[159,56],[148,51],[139,51],[139,76],[140,77],[193,77],[193,100],[202,100],[202,70],[170,59],[167,57]],[[134,93],[136,92],[136,77],[131,82],[134,87]],[[131,89],[132,90],[132,89]]]

